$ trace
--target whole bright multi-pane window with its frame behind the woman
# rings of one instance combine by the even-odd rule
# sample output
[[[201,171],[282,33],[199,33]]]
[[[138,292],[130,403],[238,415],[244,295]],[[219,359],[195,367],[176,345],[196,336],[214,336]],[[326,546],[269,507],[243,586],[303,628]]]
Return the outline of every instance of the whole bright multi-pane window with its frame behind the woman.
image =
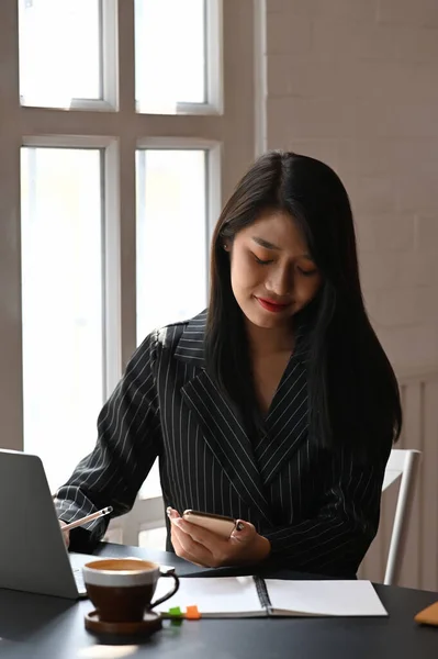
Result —
[[[222,191],[255,154],[254,19],[0,0],[0,446],[40,455],[53,490],[138,342],[205,306]],[[161,543],[156,468],[142,496],[128,521]]]

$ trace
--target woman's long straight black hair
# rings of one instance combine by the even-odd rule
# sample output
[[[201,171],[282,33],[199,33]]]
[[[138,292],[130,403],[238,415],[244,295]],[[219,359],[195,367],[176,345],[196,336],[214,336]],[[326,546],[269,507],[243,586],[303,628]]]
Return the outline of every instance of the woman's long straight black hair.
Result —
[[[323,277],[316,299],[295,319],[305,317],[310,327],[310,433],[322,446],[379,450],[401,433],[398,384],[363,304],[348,194],[319,160],[267,153],[223,209],[212,241],[206,369],[242,413],[248,432],[259,432],[244,316],[232,290],[224,243],[233,243],[268,210],[287,212],[299,223]]]

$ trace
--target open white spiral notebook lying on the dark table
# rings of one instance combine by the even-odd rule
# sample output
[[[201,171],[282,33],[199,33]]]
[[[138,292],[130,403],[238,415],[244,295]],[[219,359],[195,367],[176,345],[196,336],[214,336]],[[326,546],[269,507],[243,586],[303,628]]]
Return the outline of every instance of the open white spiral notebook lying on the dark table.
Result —
[[[159,579],[154,599],[169,590]],[[369,581],[283,581],[260,577],[180,579],[179,591],[156,611],[166,614],[196,606],[202,617],[383,616],[388,615]]]

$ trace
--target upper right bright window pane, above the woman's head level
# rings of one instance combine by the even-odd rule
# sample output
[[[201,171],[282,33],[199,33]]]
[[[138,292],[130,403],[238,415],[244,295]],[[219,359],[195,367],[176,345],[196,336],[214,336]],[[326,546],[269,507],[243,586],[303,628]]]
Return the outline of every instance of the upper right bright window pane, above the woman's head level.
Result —
[[[176,114],[205,102],[205,0],[135,0],[139,112]]]

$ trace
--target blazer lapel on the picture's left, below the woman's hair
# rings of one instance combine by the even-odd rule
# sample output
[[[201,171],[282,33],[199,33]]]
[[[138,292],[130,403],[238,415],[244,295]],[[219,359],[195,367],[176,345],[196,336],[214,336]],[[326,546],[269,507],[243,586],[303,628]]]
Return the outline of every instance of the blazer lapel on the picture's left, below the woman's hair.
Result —
[[[205,442],[236,491],[269,521],[271,512],[250,439],[238,415],[204,368],[205,321],[206,312],[190,321],[175,351],[177,358],[199,367],[198,375],[181,388],[181,394],[200,422]]]

